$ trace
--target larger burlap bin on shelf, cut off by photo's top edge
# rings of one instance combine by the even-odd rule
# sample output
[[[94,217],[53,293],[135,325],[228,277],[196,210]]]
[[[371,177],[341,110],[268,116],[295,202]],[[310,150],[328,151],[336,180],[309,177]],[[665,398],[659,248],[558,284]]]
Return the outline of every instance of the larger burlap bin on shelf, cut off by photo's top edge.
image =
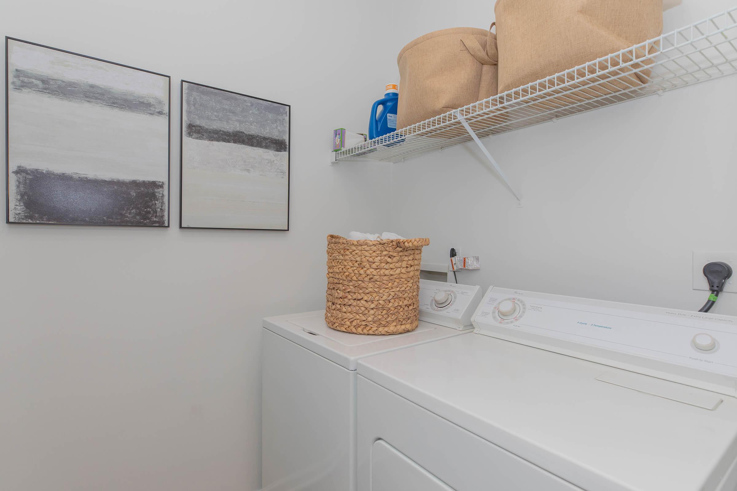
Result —
[[[497,0],[499,92],[535,82],[612,54],[663,32],[663,0]],[[651,49],[652,51],[652,49]],[[623,64],[646,56],[644,49]],[[635,63],[633,68],[642,68]],[[609,68],[601,64],[601,69]],[[617,66],[618,60],[612,60]],[[594,85],[590,96],[646,82],[649,72]],[[579,77],[587,74],[580,73]],[[573,77],[569,77],[569,81]],[[607,77],[608,79],[609,77]],[[564,78],[559,83],[567,82]],[[595,80],[593,80],[595,82]]]

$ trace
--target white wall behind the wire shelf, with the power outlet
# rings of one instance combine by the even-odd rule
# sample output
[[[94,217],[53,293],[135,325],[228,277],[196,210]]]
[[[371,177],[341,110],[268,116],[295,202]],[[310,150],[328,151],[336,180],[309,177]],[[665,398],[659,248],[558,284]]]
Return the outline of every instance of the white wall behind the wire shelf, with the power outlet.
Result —
[[[474,13],[489,3],[464,3],[453,20],[487,27]],[[685,0],[666,31],[733,5]],[[461,283],[698,309],[708,292],[691,289],[691,251],[737,250],[735,107],[727,77],[484,140],[524,208],[475,144],[394,164],[392,227],[430,237],[424,261],[480,255]],[[713,311],[737,315],[737,295]]]

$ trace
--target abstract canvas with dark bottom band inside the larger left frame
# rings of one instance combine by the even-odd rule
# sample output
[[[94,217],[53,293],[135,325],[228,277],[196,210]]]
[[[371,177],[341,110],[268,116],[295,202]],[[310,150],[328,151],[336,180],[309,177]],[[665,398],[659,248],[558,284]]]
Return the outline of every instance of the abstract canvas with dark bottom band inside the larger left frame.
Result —
[[[6,38],[7,221],[169,226],[166,75]]]

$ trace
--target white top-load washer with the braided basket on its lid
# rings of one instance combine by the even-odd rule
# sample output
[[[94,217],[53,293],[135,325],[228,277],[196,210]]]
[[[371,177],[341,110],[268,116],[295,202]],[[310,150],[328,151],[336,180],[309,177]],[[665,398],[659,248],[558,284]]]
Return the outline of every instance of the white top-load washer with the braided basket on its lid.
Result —
[[[420,280],[419,326],[391,336],[335,331],[324,311],[265,318],[263,490],[354,491],[357,361],[469,334],[482,294],[478,286]]]

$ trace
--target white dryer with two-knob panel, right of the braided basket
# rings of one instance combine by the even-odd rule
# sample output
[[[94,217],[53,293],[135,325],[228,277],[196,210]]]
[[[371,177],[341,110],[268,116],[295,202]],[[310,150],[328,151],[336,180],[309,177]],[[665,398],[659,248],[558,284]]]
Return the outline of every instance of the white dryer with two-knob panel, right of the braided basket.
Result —
[[[737,317],[492,288],[358,363],[359,491],[736,491]]]

